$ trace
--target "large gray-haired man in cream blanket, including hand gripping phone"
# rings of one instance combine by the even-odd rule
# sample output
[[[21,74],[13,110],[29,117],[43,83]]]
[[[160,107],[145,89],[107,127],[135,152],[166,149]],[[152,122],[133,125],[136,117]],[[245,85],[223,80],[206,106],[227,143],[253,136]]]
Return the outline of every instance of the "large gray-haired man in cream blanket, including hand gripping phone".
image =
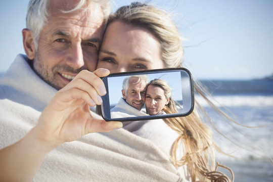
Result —
[[[179,180],[151,142],[124,129],[104,133],[122,124],[89,111],[109,74],[94,71],[109,3],[30,1],[26,56],[0,79],[1,181]]]

